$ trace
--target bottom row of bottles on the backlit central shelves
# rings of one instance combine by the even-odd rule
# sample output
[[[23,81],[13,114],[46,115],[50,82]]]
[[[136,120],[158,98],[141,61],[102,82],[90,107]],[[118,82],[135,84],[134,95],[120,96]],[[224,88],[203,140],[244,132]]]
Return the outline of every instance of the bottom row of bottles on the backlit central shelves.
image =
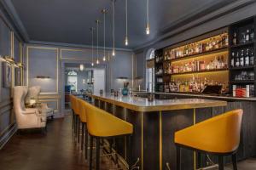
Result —
[[[171,81],[165,83],[165,92],[185,92],[185,93],[201,93],[207,85],[221,85],[223,87],[223,92],[228,91],[227,84],[224,82],[214,82],[207,78],[205,79],[191,79],[186,81]]]

